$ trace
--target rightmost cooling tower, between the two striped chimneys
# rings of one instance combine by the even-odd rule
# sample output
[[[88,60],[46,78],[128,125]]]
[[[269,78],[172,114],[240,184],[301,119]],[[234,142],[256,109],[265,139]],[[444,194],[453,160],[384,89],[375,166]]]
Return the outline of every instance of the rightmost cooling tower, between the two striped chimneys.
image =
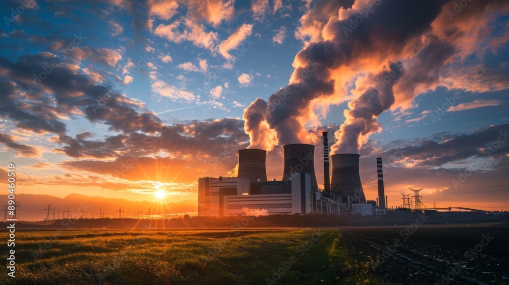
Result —
[[[358,154],[331,155],[332,179],[331,191],[339,192],[341,196],[359,198],[360,203],[366,202],[359,175]]]

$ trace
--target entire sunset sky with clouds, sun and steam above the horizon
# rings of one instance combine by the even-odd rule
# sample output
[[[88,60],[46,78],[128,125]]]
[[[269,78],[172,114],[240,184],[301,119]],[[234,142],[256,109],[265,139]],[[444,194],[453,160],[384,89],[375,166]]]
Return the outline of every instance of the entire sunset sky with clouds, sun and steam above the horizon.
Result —
[[[0,11],[0,173],[15,163],[18,194],[188,203],[198,178],[235,176],[237,150],[267,150],[281,179],[281,146],[327,130],[333,154],[360,154],[368,200],[382,157],[389,207],[424,188],[428,207],[509,210],[506,1]]]

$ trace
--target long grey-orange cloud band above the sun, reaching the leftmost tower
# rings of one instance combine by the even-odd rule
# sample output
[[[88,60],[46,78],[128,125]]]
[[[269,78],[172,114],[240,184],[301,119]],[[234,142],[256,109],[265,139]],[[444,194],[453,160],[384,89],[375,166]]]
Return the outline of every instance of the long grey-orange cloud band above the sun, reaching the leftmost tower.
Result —
[[[211,102],[205,104],[211,105]],[[98,164],[111,164],[112,160],[122,157],[145,157],[160,153],[171,153],[168,157],[183,160],[193,157],[197,162],[203,162],[223,152],[225,147],[242,148],[247,140],[243,128],[244,122],[240,119],[193,120],[160,126],[153,134],[130,132],[97,140],[84,133],[75,138],[61,135],[54,138],[53,142],[62,145],[55,151],[72,158],[101,160]],[[205,145],[206,148],[203,147]],[[232,154],[229,159],[236,159],[231,150],[228,153]],[[231,166],[224,166],[224,169],[228,168],[231,169]],[[109,169],[109,173],[113,170]]]

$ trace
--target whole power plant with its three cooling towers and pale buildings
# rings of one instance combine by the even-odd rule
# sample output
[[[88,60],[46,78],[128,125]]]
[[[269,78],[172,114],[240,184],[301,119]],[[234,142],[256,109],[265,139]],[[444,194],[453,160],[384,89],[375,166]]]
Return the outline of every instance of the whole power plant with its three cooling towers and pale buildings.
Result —
[[[265,214],[358,212],[361,215],[370,212],[371,215],[372,204],[366,203],[360,181],[359,155],[330,156],[332,175],[329,183],[327,132],[323,133],[323,137],[324,189],[318,187],[313,145],[283,147],[284,166],[280,181],[267,180],[265,150],[239,150],[237,177],[199,179],[198,215],[222,217],[246,215],[252,211]],[[374,206],[373,209],[376,208]]]

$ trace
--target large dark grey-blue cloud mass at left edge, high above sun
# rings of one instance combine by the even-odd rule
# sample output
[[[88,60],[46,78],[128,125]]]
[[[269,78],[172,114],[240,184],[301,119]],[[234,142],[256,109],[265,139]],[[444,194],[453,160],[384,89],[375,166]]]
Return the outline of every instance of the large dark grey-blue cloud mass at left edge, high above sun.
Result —
[[[51,76],[36,82],[34,74],[40,74],[41,66],[50,65]],[[79,72],[79,66],[60,63],[51,53],[23,55],[17,62],[0,58],[0,69],[9,78],[0,78],[0,116],[9,118],[20,130],[65,134],[67,125],[61,120],[69,116],[84,116],[115,131],[152,132],[161,126],[157,117],[140,111],[144,105],[99,84]]]

